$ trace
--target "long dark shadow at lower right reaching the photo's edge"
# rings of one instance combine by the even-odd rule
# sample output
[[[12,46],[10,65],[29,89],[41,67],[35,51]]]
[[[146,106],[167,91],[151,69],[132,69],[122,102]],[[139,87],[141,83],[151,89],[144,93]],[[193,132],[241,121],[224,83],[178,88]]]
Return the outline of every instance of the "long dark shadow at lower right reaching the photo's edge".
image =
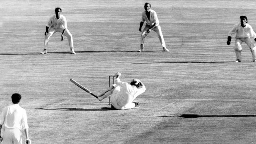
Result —
[[[181,114],[172,116],[159,116],[159,117],[180,117],[180,118],[199,118],[199,117],[256,117],[256,115],[198,115],[198,114]]]

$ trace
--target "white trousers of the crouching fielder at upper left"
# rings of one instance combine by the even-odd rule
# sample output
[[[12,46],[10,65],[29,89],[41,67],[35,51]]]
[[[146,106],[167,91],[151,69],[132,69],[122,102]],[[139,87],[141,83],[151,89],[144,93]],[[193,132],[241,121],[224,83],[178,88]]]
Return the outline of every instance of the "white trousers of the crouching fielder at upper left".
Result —
[[[62,33],[63,29],[62,28],[52,28],[52,27],[49,28],[48,34],[45,36],[44,49],[47,49],[50,37],[56,32]],[[66,28],[65,32],[63,33],[63,35],[65,35],[68,38],[69,48],[70,49],[74,48],[73,37],[67,28]]]

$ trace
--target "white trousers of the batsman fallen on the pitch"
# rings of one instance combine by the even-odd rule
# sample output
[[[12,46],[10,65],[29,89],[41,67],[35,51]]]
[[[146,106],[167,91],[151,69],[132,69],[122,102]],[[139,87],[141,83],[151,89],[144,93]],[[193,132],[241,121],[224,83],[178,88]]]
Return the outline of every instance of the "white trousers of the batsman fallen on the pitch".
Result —
[[[126,105],[124,105],[123,107],[121,107],[120,105],[118,105],[117,102],[117,96],[119,96],[119,92],[120,92],[120,87],[117,86],[115,87],[113,93],[111,94],[111,104],[119,110],[125,110],[125,109],[132,109],[135,107],[135,103],[131,102],[131,103],[127,103]]]

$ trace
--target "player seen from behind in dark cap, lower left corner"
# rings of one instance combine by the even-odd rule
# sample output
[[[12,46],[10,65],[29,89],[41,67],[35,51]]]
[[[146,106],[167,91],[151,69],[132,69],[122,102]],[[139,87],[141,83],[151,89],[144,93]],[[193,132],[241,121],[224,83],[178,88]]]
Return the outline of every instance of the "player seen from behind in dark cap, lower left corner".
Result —
[[[20,107],[20,94],[13,94],[12,105],[4,107],[0,115],[0,137],[3,144],[22,144],[22,131],[26,134],[26,143],[31,144],[28,138],[28,120],[26,110]],[[2,129],[1,129],[2,128]]]

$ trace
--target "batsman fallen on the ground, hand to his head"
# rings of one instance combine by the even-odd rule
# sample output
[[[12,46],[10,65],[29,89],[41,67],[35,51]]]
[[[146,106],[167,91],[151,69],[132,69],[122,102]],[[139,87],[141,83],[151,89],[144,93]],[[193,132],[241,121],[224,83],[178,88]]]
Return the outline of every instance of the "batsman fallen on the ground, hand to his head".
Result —
[[[145,92],[146,87],[139,79],[133,79],[131,83],[120,81],[121,73],[115,74],[115,84],[102,94],[98,94],[98,100],[111,96],[111,107],[119,110],[138,108],[139,102],[132,102],[137,96]]]

